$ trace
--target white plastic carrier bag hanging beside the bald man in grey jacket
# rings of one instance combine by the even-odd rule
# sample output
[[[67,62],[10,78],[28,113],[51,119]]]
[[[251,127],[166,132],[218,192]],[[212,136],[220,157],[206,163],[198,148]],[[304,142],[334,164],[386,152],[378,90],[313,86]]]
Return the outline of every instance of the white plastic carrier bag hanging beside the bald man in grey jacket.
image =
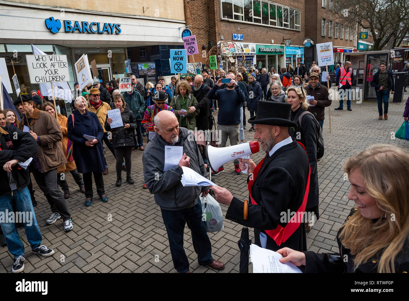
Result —
[[[209,194],[206,196],[200,195],[200,202],[202,203],[202,211],[205,214],[205,224],[207,232],[222,231],[223,213],[220,204]]]

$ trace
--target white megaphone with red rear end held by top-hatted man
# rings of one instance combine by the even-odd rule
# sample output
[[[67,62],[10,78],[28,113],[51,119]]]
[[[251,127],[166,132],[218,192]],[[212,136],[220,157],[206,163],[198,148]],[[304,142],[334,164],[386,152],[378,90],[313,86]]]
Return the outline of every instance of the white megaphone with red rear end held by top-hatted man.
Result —
[[[206,147],[207,159],[209,159],[209,164],[214,172],[217,172],[219,167],[223,164],[232,161],[234,159],[250,159],[251,154],[258,153],[260,151],[260,145],[257,141],[251,141],[247,143],[237,144],[227,147],[214,147],[210,144]],[[243,173],[247,173],[249,165]]]

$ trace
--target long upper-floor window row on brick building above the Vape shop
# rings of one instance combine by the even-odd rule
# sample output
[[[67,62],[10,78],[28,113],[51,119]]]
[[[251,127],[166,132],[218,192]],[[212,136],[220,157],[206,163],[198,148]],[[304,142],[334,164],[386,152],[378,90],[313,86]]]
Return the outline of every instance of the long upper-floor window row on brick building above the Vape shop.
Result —
[[[267,0],[221,0],[220,3],[223,19],[301,29],[301,11],[297,9]]]

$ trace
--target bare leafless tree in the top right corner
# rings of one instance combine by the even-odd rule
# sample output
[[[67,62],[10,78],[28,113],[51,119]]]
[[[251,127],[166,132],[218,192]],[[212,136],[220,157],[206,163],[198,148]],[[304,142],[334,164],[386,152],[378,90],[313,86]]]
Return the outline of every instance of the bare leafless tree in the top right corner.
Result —
[[[409,33],[409,0],[337,0],[336,5],[342,22],[371,32],[373,50],[396,47]]]

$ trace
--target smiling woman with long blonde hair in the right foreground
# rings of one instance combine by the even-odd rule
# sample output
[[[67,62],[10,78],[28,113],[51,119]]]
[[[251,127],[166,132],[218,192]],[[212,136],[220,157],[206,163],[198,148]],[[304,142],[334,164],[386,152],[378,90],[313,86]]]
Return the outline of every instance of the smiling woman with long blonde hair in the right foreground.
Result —
[[[339,229],[339,254],[279,249],[282,263],[305,272],[409,272],[409,155],[390,145],[373,145],[344,165],[356,207]]]

